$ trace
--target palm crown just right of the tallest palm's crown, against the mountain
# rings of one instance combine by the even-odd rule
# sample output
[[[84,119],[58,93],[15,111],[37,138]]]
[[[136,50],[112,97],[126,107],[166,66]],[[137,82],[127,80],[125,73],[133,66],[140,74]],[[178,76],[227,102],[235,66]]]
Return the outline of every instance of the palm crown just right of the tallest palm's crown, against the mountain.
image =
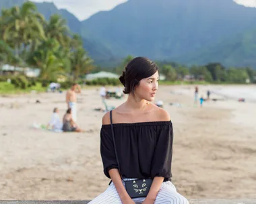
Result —
[[[47,38],[55,38],[61,46],[69,45],[69,28],[60,15],[52,15],[49,22],[44,25],[44,30]]]

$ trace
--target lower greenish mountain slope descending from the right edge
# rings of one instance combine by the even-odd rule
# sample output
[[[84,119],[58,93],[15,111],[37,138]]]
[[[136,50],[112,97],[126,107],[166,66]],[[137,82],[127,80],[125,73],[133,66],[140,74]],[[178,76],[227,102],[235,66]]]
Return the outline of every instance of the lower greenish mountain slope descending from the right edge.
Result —
[[[227,40],[193,52],[187,57],[175,59],[186,64],[222,62],[228,66],[251,66],[256,68],[256,26]]]

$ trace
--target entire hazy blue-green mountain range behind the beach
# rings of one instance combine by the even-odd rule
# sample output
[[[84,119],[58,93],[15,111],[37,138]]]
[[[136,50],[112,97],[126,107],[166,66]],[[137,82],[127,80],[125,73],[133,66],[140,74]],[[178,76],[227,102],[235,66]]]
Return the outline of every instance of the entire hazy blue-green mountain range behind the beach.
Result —
[[[0,9],[25,1],[1,0]],[[129,0],[85,21],[54,3],[36,6],[46,19],[54,13],[66,19],[96,64],[111,66],[131,54],[188,65],[256,68],[256,8],[232,0]]]

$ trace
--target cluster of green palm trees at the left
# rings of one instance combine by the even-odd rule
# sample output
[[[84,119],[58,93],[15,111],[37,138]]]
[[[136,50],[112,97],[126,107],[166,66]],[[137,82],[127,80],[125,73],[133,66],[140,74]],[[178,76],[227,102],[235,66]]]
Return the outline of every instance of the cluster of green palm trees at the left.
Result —
[[[3,9],[0,25],[0,65],[39,68],[40,79],[51,81],[61,75],[75,81],[94,68],[82,38],[69,32],[65,19],[52,15],[46,21],[30,1]]]

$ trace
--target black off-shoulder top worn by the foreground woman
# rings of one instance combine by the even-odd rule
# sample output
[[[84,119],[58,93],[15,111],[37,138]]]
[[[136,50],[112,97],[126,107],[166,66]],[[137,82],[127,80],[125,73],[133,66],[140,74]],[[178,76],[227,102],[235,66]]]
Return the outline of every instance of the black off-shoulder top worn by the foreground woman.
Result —
[[[121,174],[124,178],[162,176],[164,181],[171,180],[171,121],[114,123],[113,127]],[[102,125],[100,139],[104,174],[110,178],[108,170],[118,168],[111,125]]]

